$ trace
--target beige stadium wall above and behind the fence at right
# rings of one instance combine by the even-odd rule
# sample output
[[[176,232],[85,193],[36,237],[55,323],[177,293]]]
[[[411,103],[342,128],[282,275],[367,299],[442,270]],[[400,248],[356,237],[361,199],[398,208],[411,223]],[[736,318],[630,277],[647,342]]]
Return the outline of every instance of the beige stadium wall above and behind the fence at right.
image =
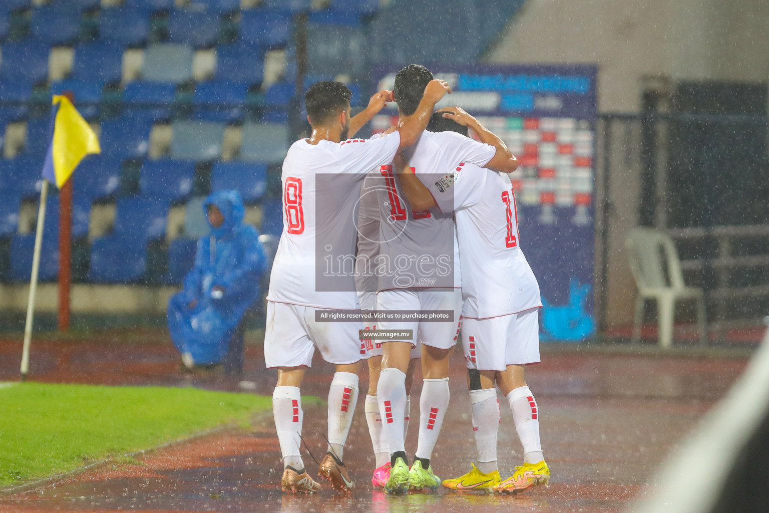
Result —
[[[766,82],[767,24],[769,3],[754,0],[528,0],[484,61],[596,64],[598,112],[640,113],[642,94],[660,82]],[[624,238],[639,222],[642,157],[620,155],[638,148],[627,146],[609,155],[608,328],[632,322],[636,294]]]

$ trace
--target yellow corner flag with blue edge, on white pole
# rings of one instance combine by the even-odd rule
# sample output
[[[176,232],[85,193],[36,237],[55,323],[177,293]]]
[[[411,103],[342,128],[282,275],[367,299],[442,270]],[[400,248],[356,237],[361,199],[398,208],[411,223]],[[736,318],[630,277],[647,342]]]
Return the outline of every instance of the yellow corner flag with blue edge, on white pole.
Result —
[[[43,178],[62,188],[85,155],[101,153],[98,138],[66,96],[53,97],[52,131]]]

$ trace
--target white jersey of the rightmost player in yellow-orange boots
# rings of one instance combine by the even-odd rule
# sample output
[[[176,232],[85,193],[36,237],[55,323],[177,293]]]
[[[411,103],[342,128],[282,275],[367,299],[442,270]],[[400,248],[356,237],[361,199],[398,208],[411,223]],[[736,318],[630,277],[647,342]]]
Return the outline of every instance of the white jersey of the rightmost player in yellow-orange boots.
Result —
[[[462,259],[462,316],[490,318],[542,306],[539,284],[521,251],[518,210],[508,175],[462,163],[428,185],[454,208]]]

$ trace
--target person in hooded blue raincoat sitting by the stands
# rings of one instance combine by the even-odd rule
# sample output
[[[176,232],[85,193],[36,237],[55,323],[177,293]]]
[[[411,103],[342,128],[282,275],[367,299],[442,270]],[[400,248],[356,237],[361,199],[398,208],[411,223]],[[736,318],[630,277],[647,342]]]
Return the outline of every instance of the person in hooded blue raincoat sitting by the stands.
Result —
[[[168,300],[168,331],[186,368],[225,364],[243,368],[245,313],[260,297],[265,252],[256,228],[243,222],[237,191],[219,191],[203,202],[211,233],[198,240],[195,268],[184,289]]]

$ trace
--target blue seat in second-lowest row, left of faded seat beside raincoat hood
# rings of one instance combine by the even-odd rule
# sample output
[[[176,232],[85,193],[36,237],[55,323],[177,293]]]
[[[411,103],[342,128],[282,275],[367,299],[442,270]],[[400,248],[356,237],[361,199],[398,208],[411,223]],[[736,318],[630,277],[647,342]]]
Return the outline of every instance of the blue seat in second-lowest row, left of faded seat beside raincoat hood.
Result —
[[[143,239],[165,237],[168,202],[155,198],[120,198],[112,235]]]

